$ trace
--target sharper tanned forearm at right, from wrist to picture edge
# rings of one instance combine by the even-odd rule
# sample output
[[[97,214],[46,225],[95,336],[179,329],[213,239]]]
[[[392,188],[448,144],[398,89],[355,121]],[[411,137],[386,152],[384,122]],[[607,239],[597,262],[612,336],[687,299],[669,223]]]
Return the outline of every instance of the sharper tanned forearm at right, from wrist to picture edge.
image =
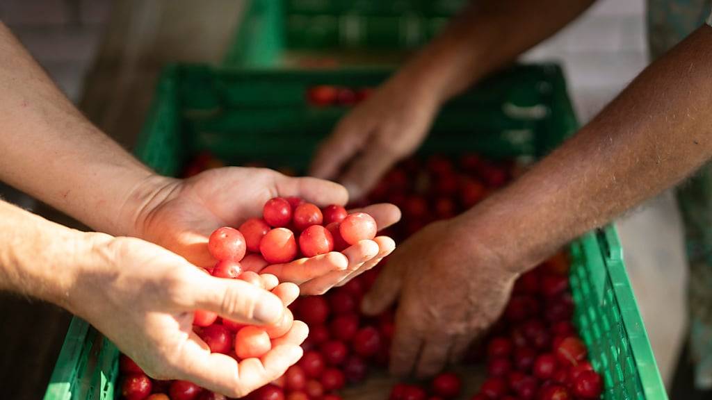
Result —
[[[639,75],[571,140],[464,223],[511,268],[529,268],[585,231],[689,176],[712,156],[712,28]]]

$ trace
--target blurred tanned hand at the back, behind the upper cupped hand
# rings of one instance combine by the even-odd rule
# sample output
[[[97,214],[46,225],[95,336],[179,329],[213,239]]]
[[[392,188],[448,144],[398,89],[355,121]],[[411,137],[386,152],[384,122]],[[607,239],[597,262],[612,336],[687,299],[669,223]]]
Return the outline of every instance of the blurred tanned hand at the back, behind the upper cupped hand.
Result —
[[[354,108],[321,144],[310,174],[340,181],[359,199],[423,142],[440,102],[419,78],[399,73]]]

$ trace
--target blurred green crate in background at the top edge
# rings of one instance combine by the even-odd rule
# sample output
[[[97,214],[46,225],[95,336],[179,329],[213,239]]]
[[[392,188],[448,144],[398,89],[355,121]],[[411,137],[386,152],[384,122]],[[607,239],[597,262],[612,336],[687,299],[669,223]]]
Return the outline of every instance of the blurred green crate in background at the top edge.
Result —
[[[250,0],[225,64],[290,65],[301,58],[390,64],[433,38],[466,0]]]

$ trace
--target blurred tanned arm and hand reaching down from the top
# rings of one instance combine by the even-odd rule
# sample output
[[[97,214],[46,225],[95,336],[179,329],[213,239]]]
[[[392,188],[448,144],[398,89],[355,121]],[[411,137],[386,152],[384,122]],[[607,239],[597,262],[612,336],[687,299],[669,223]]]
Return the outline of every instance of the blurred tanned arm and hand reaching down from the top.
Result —
[[[311,174],[340,181],[352,198],[359,198],[389,167],[419,147],[446,100],[548,38],[592,3],[473,2],[338,123],[315,154]],[[535,17],[542,10],[546,18]]]

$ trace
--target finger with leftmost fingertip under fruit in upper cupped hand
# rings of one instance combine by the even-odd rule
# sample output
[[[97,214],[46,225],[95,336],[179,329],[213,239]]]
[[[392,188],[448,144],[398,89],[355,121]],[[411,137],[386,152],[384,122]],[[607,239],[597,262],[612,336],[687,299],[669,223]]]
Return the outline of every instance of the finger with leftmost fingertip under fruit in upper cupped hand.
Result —
[[[346,270],[348,265],[349,261],[344,254],[332,251],[321,256],[300,258],[291,263],[270,265],[262,273],[276,275],[281,282],[301,285],[330,272]]]

